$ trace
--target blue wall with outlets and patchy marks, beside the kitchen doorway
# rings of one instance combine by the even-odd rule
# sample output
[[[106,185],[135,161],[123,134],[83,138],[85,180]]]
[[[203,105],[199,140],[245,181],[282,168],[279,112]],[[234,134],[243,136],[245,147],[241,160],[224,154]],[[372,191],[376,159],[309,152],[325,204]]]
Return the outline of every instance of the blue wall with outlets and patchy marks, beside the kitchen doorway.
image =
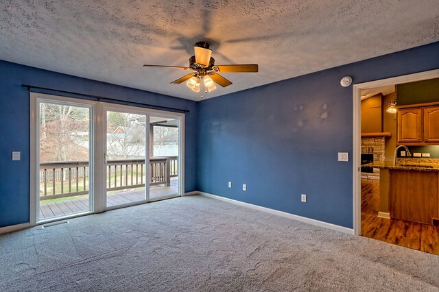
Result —
[[[337,162],[353,151],[353,88],[340,79],[438,69],[438,52],[436,42],[201,101],[198,190],[353,228],[353,164]]]

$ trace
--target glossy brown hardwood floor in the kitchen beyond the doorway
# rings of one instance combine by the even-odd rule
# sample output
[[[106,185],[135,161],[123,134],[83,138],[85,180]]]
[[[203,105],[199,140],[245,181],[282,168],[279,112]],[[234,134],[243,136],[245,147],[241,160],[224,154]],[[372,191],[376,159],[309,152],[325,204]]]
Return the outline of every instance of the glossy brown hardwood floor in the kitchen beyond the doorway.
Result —
[[[361,180],[361,235],[439,254],[439,226],[379,218],[379,180]]]

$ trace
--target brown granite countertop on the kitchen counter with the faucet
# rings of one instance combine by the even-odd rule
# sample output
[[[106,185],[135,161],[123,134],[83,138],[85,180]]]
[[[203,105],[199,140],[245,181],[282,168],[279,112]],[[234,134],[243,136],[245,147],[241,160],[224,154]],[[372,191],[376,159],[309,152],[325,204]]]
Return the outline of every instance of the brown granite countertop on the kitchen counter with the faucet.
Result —
[[[426,158],[396,158],[395,166],[393,166],[393,161],[375,161],[366,165],[361,165],[361,167],[439,172],[438,160]]]

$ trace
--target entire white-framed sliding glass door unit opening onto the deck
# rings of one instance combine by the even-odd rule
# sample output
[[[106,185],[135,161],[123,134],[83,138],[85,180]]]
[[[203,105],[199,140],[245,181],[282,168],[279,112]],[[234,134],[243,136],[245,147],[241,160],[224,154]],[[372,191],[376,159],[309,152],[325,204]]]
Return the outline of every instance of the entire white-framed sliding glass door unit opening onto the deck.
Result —
[[[31,225],[182,195],[184,114],[30,99]]]

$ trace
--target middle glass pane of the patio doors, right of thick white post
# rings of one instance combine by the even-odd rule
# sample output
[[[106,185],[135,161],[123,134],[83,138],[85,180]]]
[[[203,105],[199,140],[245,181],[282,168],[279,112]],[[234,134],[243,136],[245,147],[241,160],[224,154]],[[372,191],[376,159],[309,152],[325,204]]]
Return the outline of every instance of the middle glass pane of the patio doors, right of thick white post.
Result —
[[[147,199],[147,115],[106,111],[106,207]]]

